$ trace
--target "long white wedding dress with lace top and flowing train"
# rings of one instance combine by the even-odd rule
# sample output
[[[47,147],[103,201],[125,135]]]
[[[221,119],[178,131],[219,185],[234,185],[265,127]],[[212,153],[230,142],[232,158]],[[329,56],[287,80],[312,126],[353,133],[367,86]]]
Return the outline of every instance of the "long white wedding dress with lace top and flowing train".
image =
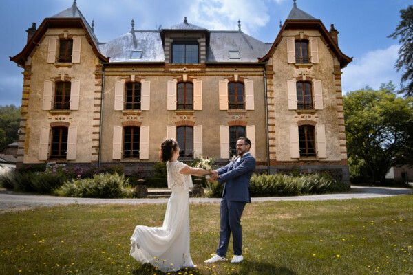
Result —
[[[161,228],[138,225],[131,236],[130,255],[141,263],[151,263],[162,272],[193,267],[189,254],[189,188],[191,175],[179,173],[187,166],[167,162],[168,188],[172,190]]]

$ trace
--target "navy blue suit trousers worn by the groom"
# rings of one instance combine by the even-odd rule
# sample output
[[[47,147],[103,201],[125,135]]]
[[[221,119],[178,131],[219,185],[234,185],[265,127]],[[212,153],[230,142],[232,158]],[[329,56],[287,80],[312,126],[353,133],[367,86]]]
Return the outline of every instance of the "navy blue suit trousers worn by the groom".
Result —
[[[226,195],[221,200],[221,232],[220,244],[216,254],[224,257],[228,250],[231,232],[233,235],[234,255],[242,255],[242,226],[241,215],[246,202],[229,201]]]

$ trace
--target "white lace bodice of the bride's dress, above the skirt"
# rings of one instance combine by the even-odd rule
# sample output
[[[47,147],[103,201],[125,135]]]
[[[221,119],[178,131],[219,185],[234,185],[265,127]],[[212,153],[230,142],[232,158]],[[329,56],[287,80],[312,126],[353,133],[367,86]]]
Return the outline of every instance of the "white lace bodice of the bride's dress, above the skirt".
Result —
[[[192,188],[191,175],[184,175],[179,173],[182,168],[187,166],[182,162],[167,162],[167,179],[168,188],[173,191],[189,190]]]

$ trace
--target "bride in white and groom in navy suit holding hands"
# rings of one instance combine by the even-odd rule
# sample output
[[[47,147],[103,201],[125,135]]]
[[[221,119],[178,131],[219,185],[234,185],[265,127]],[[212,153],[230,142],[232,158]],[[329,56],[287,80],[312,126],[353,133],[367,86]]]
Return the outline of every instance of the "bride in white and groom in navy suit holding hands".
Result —
[[[255,170],[255,158],[249,153],[251,141],[237,140],[238,157],[217,170],[192,168],[178,161],[179,146],[168,138],[161,144],[160,160],[167,163],[168,188],[172,194],[167,204],[162,227],[138,225],[131,236],[131,252],[137,261],[151,263],[162,272],[196,267],[189,253],[189,188],[191,175],[209,175],[209,181],[224,184],[221,199],[220,242],[215,254],[205,263],[225,261],[229,238],[233,234],[234,256],[231,263],[239,263],[242,256],[241,216],[246,203],[251,203],[249,181]]]

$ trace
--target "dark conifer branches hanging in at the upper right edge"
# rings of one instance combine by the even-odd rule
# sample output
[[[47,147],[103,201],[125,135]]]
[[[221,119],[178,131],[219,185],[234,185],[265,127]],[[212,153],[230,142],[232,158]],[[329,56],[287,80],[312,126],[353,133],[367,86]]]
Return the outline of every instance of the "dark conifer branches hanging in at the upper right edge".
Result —
[[[396,30],[388,37],[397,39],[400,36],[399,58],[397,58],[397,72],[403,68],[404,73],[401,76],[400,93],[405,96],[413,96],[413,5],[405,10],[400,10],[401,21]],[[404,85],[405,83],[405,85]]]

